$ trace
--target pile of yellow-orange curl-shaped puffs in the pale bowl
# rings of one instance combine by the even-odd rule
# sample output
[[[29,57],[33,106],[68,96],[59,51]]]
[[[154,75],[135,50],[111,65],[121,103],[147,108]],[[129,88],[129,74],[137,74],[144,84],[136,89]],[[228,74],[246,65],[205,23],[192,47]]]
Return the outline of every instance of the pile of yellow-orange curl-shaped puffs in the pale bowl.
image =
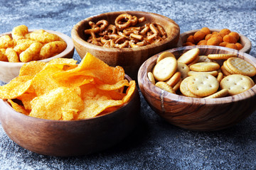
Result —
[[[1,55],[1,62],[43,60],[58,55],[67,47],[66,42],[58,35],[48,33],[46,30],[35,30],[28,33],[28,27],[25,25],[16,26],[10,36],[0,37],[0,49],[9,49],[6,53],[7,60]]]

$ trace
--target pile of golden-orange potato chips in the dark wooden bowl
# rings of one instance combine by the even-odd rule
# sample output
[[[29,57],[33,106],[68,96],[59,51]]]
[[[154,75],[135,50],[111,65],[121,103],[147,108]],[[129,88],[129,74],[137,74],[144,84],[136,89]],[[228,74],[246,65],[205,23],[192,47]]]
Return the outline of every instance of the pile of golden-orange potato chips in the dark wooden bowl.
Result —
[[[122,67],[110,67],[90,53],[76,62],[28,62],[18,77],[0,86],[0,98],[20,113],[50,120],[93,118],[129,101],[136,84],[124,79]]]

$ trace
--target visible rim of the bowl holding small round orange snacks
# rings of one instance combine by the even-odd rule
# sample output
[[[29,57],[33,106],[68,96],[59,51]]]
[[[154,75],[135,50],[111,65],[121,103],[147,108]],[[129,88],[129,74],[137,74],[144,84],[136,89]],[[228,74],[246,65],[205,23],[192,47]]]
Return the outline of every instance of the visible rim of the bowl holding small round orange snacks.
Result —
[[[218,29],[218,28],[209,28],[210,29],[210,31],[212,32],[212,31],[216,31],[216,32],[220,32],[220,30],[222,30],[222,29]],[[183,32],[183,33],[181,33],[181,35],[180,35],[180,43],[181,43],[181,46],[182,46],[182,38],[183,38],[183,36],[185,36],[185,35],[187,35],[187,34],[190,34],[190,33],[196,33],[196,31],[198,31],[198,30],[201,30],[201,29],[196,29],[196,30],[188,30],[188,31],[186,31],[186,32]],[[236,33],[238,33],[238,32],[236,32]],[[249,52],[250,52],[250,50],[251,50],[251,48],[252,48],[252,42],[250,41],[250,39],[249,38],[247,38],[245,35],[242,35],[242,34],[240,34],[240,33],[238,33],[238,35],[240,36],[240,38],[242,38],[244,41],[245,41],[245,45],[244,45],[244,47],[242,47],[242,49],[241,50],[239,50],[240,52],[247,52],[248,54],[249,54]]]

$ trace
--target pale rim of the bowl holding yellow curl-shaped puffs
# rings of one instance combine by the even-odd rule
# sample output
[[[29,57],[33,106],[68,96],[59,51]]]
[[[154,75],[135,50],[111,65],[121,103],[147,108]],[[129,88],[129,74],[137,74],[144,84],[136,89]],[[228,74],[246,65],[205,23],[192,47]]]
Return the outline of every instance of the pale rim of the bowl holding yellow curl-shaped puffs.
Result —
[[[28,33],[31,33],[35,30],[44,30],[44,29],[31,29],[31,30],[28,30]],[[63,55],[67,55],[69,52],[75,50],[75,46],[73,44],[73,41],[68,35],[65,35],[64,33],[57,32],[55,30],[45,30],[45,31],[48,32],[48,33],[53,33],[55,35],[58,35],[61,39],[63,39],[67,43],[67,47],[65,48],[65,50],[63,52],[60,52],[60,54],[55,55],[53,57],[46,58],[44,60],[37,60],[38,62],[49,62],[50,60],[62,57]],[[0,37],[3,36],[3,35],[11,35],[11,31],[6,32],[6,33],[1,33]],[[27,62],[3,62],[3,61],[0,61],[0,64],[6,64],[6,63],[9,63],[9,65],[12,66],[12,67],[16,67],[16,66],[21,67],[23,64],[26,64]]]

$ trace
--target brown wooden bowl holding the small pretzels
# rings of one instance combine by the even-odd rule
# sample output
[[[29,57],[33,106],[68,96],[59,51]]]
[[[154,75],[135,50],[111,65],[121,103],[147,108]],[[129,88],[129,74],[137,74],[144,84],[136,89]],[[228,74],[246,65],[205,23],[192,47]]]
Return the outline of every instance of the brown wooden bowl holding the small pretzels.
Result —
[[[122,49],[92,45],[91,43],[85,41],[86,37],[84,30],[90,28],[88,24],[89,21],[96,23],[97,21],[105,19],[109,23],[114,24],[115,18],[122,13],[129,13],[132,16],[137,16],[137,18],[145,16],[147,23],[159,23],[164,27],[164,30],[166,30],[168,38],[162,40],[161,42],[157,42],[156,44]],[[179,26],[166,16],[142,11],[118,11],[102,13],[97,16],[85,18],[73,27],[71,36],[75,45],[75,50],[77,50],[78,55],[80,55],[81,58],[85,56],[86,52],[90,52],[92,55],[98,57],[100,60],[104,61],[110,66],[122,66],[126,74],[133,79],[136,79],[139,67],[146,59],[163,50],[168,50],[170,47],[177,47],[176,45],[178,42],[179,33]]]

